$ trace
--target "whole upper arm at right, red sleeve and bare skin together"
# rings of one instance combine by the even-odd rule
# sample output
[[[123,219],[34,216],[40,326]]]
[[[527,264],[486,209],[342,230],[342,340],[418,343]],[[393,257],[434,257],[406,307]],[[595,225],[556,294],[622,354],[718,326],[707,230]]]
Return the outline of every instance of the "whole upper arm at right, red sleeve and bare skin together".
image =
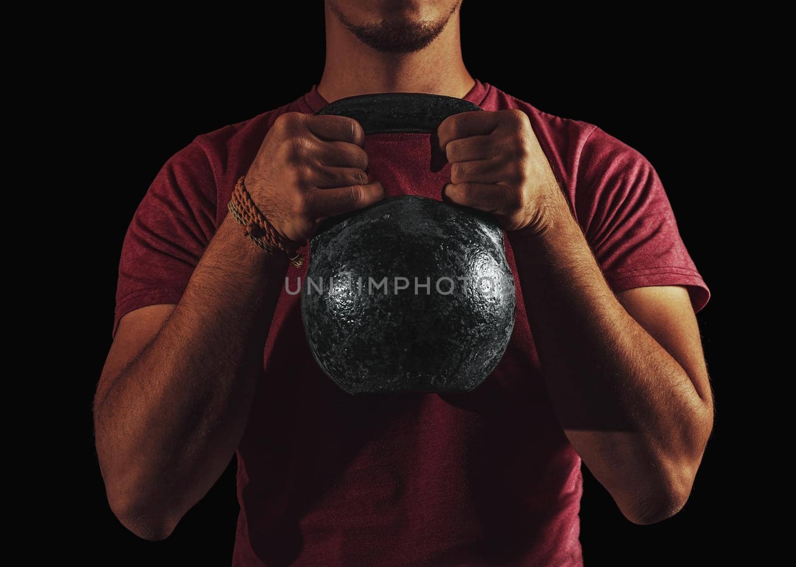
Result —
[[[710,289],[657,171],[638,150],[595,127],[580,146],[574,179],[576,217],[608,285],[712,411],[696,322]]]

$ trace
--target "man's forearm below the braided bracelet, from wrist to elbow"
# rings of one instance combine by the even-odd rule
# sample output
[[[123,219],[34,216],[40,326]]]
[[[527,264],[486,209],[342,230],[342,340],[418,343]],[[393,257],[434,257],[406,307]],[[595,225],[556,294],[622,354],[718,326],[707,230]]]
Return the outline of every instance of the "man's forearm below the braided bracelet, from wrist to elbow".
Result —
[[[160,331],[97,392],[100,467],[127,523],[176,524],[224,471],[248,420],[286,270],[228,217]]]

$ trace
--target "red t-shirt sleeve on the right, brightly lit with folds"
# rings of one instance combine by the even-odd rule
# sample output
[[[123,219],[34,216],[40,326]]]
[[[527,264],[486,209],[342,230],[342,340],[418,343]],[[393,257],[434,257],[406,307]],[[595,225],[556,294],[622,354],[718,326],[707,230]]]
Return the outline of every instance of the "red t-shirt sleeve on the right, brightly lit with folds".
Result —
[[[669,198],[650,161],[595,127],[580,153],[576,211],[615,292],[684,285],[694,312],[710,290],[681,239]]]

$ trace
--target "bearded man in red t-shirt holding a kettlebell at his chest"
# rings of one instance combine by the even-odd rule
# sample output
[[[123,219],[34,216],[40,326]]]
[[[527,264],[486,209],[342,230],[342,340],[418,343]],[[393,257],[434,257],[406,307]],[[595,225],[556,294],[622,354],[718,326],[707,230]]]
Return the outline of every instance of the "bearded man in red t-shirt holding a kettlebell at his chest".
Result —
[[[712,429],[709,290],[661,181],[599,127],[471,77],[459,7],[327,0],[318,85],[198,136],[150,186],[94,406],[108,501],[135,534],[166,538],[233,453],[233,565],[581,565],[581,459],[631,522],[684,505]],[[314,116],[388,91],[486,112],[431,138]],[[497,369],[468,394],[339,390],[284,288],[306,264],[227,212],[243,176],[294,241],[401,192],[494,214],[521,291]]]

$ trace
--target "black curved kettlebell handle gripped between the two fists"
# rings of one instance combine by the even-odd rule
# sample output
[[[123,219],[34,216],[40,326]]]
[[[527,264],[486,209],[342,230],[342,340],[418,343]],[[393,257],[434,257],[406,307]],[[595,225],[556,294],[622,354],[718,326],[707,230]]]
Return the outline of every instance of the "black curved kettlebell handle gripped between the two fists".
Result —
[[[380,92],[335,100],[316,115],[348,116],[361,124],[365,134],[431,134],[448,116],[480,110],[477,104],[454,96]]]

